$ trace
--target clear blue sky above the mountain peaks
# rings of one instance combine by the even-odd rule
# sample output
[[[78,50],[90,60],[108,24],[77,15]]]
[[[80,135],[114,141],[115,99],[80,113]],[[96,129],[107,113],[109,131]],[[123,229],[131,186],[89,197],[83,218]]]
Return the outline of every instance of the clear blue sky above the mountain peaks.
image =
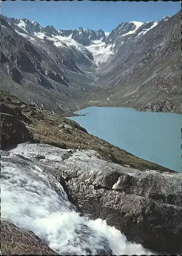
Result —
[[[126,21],[160,20],[180,10],[180,2],[99,2],[99,1],[6,1],[1,13],[8,17],[28,18],[41,26],[56,29],[103,29],[110,32]]]

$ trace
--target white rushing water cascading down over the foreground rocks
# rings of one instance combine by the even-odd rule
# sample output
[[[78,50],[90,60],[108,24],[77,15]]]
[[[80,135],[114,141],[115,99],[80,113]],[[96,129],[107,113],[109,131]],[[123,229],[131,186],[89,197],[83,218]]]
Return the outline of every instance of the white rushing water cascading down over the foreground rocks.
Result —
[[[32,230],[60,254],[151,254],[106,221],[80,216],[62,186],[33,159],[2,153],[3,219]]]

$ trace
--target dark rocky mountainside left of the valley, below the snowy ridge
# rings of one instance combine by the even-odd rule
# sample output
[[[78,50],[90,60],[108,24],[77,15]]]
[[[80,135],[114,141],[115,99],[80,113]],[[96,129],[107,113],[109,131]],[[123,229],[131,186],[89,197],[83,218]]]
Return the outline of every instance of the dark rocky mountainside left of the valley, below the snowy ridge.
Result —
[[[90,66],[92,55],[86,49],[83,55],[63,42],[62,50],[49,38],[16,32],[3,18],[1,24],[2,89],[59,112],[83,101],[94,79],[86,77],[75,60]]]

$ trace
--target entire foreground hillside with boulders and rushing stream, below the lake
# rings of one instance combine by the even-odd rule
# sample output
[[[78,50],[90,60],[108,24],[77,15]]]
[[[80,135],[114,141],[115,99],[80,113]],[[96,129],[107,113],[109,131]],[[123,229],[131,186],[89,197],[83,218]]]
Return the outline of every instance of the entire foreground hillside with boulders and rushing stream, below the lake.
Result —
[[[1,117],[5,254],[182,252],[181,174],[9,93]]]

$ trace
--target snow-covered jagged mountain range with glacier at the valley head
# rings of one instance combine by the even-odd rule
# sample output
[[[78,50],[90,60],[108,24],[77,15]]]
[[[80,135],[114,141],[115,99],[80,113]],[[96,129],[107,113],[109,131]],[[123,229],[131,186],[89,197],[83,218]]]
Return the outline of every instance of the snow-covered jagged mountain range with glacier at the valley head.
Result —
[[[112,58],[124,41],[142,36],[157,25],[156,22],[123,22],[108,33],[102,29],[97,31],[83,28],[56,30],[53,26],[41,27],[35,21],[31,22],[25,18],[6,17],[6,20],[17,33],[29,39],[33,44],[37,44],[34,37],[49,41],[58,48],[66,49],[66,54],[69,54],[79,64],[88,64],[93,67],[99,67]],[[78,58],[80,55],[81,61]]]

